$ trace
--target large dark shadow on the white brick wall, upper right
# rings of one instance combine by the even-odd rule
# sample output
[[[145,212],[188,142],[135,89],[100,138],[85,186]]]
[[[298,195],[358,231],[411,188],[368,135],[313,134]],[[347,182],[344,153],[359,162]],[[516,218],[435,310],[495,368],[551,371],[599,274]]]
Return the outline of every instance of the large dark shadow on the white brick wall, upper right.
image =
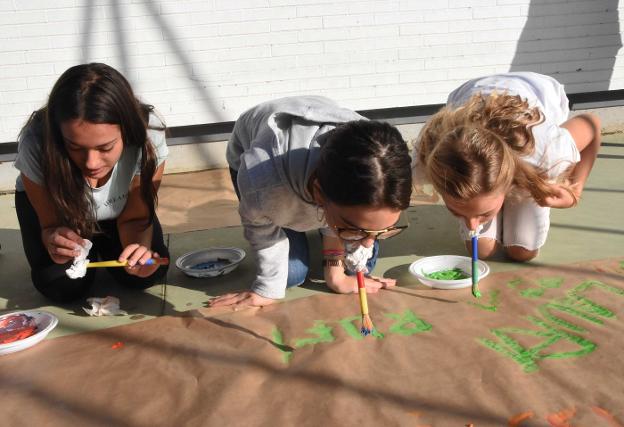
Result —
[[[510,71],[550,75],[568,93],[608,90],[622,47],[618,1],[531,0]]]

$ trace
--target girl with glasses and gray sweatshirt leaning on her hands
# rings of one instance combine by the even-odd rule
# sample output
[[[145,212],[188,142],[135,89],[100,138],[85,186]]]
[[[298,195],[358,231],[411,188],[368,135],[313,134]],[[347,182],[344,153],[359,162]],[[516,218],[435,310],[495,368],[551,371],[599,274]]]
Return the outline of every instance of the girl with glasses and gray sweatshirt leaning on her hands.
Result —
[[[227,149],[240,199],[246,239],[257,259],[249,291],[227,294],[212,306],[270,304],[308,273],[305,231],[321,229],[327,285],[357,292],[340,259],[345,242],[370,248],[392,237],[411,195],[410,156],[399,131],[368,121],[315,96],[283,98],[243,113]],[[368,277],[376,292],[394,280]]]

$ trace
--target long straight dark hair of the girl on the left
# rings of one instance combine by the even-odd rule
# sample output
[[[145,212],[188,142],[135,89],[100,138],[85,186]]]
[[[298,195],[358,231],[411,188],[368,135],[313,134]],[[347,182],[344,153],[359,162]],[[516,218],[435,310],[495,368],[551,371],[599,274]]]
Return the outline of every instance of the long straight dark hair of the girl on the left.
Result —
[[[43,129],[42,172],[61,225],[89,237],[96,228],[91,189],[70,159],[60,125],[68,120],[119,125],[123,143],[141,151],[141,197],[149,208],[146,227],[154,219],[157,204],[152,182],[156,153],[147,136],[151,105],[140,103],[128,81],[114,68],[100,63],[76,65],[57,80],[48,104],[33,113],[30,126]]]

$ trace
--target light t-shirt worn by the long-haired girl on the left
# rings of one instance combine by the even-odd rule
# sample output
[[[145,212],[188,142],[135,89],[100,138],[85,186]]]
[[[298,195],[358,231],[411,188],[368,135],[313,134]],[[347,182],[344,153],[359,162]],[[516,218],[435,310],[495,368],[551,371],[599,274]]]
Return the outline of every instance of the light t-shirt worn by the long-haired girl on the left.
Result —
[[[155,128],[164,127],[162,120],[154,113],[150,113],[149,125]],[[169,155],[169,149],[165,141],[165,131],[148,128],[147,136],[156,152],[157,165],[160,165]],[[17,158],[15,159],[15,167],[38,185],[44,185],[44,177],[41,170],[42,142],[40,130],[31,126],[24,132],[24,136],[18,143]],[[121,157],[114,166],[106,184],[92,189],[95,214],[98,221],[114,219],[119,216],[128,200],[130,182],[132,178],[140,174],[141,151],[139,147],[124,145]],[[24,191],[21,175],[18,176],[15,182],[15,190]]]

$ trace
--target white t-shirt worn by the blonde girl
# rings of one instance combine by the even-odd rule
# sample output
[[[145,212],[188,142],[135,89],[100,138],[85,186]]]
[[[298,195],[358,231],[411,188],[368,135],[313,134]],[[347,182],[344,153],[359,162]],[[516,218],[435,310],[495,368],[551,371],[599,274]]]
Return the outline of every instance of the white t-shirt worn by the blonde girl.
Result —
[[[581,155],[567,129],[561,124],[568,119],[570,109],[563,85],[552,77],[532,72],[495,74],[469,80],[450,93],[447,105],[457,108],[477,93],[488,95],[496,91],[508,95],[519,95],[531,107],[538,107],[544,121],[532,127],[535,138],[533,153],[522,160],[545,170],[550,179],[555,179],[570,166],[578,163]]]

